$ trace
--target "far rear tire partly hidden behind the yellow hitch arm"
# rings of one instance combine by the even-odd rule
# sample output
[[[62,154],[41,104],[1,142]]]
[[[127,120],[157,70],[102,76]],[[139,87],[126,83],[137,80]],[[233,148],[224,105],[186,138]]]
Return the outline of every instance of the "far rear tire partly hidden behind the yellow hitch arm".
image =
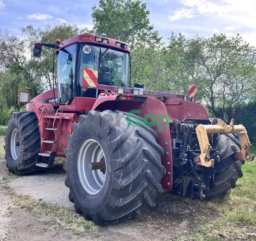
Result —
[[[218,150],[220,160],[241,150],[239,141],[232,134],[219,135]],[[210,179],[209,191],[205,192],[206,198],[226,195],[231,188],[236,188],[236,181],[243,176],[241,170],[244,161],[237,160],[232,165],[214,174]]]

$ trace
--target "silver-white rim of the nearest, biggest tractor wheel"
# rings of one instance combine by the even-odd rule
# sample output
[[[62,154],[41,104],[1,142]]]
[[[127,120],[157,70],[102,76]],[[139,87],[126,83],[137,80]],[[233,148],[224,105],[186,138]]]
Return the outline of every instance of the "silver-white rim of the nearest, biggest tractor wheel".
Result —
[[[100,162],[105,154],[100,144],[93,140],[86,140],[81,146],[77,158],[77,171],[81,185],[84,190],[91,195],[95,195],[102,189],[107,173],[100,170],[90,170],[89,163]],[[106,168],[107,172],[107,168]]]

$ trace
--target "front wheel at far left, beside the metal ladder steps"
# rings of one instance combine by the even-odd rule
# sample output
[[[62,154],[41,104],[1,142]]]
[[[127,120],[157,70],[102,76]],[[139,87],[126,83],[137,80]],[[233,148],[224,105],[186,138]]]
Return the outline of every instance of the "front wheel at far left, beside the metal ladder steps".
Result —
[[[36,166],[40,150],[38,120],[34,112],[15,112],[10,116],[5,136],[5,158],[9,171],[15,174],[38,173]]]

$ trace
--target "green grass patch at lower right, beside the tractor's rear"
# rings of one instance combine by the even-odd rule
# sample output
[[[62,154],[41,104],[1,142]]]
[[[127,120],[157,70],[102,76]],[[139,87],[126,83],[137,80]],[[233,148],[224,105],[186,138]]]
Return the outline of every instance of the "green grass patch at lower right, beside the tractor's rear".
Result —
[[[251,154],[256,154],[252,147]],[[196,201],[183,198],[183,201],[220,212],[222,216],[209,223],[201,223],[191,229],[182,240],[256,240],[256,162],[246,162],[242,166],[244,176],[238,179],[236,188],[222,198],[211,201]],[[180,197],[181,198],[181,197]],[[182,198],[181,198],[182,199]]]

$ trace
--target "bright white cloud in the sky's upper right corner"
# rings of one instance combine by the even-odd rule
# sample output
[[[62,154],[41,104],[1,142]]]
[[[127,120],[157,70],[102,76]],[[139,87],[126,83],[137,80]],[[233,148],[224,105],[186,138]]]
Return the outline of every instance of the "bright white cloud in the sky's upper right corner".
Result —
[[[231,32],[239,29],[240,36],[256,46],[256,1],[179,0],[179,2],[183,4],[184,8],[193,8],[193,15],[203,19],[204,26],[209,26],[214,30],[217,28],[219,32],[221,29],[223,32],[227,32],[227,35],[234,34]],[[214,26],[212,26],[213,23]],[[191,21],[191,25],[195,24]]]

